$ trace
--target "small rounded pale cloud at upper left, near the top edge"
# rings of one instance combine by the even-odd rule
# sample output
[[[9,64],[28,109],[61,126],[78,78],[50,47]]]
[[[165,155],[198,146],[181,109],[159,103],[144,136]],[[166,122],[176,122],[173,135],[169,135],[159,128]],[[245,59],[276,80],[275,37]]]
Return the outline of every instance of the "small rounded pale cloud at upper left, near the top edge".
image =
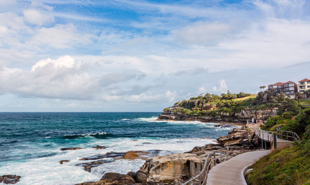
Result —
[[[25,19],[31,24],[43,25],[45,23],[54,22],[53,15],[42,14],[36,9],[28,9],[23,11]]]

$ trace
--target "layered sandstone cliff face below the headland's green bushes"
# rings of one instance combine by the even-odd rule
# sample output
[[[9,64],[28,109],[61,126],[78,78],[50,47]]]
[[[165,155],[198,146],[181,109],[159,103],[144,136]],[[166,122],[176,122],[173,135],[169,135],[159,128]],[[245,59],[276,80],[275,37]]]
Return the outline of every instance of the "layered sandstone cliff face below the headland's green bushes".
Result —
[[[157,120],[174,120],[174,121],[201,121],[201,122],[239,122],[246,123],[247,119],[261,119],[266,120],[268,116],[277,115],[278,108],[262,109],[262,110],[241,110],[240,113],[221,113],[219,116],[206,115],[204,117],[186,114],[177,110],[177,107],[169,107],[167,110],[163,110],[162,114],[159,114]]]

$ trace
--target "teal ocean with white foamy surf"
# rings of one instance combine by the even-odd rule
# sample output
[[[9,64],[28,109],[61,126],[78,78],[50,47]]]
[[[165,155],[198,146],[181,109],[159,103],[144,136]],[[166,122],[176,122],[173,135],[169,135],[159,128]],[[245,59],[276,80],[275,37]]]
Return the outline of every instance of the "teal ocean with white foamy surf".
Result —
[[[93,167],[79,159],[107,152],[183,153],[214,143],[227,128],[199,121],[156,121],[161,112],[1,112],[0,176],[20,175],[17,184],[72,185],[98,181],[104,173],[137,171],[143,159],[119,159]],[[202,139],[202,138],[212,139]],[[96,145],[106,149],[90,148]],[[83,149],[60,151],[60,148]],[[153,151],[153,153],[152,153]],[[156,151],[156,154],[154,153]],[[61,160],[70,160],[60,164]],[[110,160],[106,158],[105,160]],[[1,184],[1,183],[0,183]]]

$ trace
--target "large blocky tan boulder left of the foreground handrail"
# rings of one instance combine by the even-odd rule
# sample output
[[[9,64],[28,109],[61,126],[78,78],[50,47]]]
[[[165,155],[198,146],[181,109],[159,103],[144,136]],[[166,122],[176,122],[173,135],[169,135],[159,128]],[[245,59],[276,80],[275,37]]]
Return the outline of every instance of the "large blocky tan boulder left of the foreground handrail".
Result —
[[[177,153],[149,158],[137,171],[137,183],[172,183],[196,176],[206,158],[191,153]]]

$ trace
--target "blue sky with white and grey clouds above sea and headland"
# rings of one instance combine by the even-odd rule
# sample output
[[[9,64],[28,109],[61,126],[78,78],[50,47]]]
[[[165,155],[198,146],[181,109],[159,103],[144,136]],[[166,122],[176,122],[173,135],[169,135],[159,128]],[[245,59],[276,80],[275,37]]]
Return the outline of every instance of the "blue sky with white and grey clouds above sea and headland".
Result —
[[[1,0],[0,111],[160,112],[257,93],[310,79],[309,30],[306,0]]]

